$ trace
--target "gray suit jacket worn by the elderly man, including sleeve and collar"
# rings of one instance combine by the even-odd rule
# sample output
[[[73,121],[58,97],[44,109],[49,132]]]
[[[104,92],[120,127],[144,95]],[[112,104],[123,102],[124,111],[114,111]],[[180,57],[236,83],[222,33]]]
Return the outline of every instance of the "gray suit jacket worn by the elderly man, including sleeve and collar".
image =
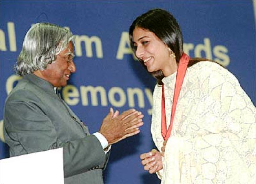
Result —
[[[109,154],[49,82],[24,76],[5,101],[4,127],[10,156],[63,147],[65,184],[103,183]]]

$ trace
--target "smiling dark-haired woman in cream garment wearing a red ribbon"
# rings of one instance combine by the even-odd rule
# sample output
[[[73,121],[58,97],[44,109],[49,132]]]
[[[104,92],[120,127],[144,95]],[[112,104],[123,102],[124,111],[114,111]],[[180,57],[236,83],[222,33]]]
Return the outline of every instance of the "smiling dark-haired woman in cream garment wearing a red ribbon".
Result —
[[[157,79],[151,134],[159,151],[141,154],[144,170],[162,184],[255,183],[256,108],[235,76],[187,56],[165,10],[137,17],[129,34],[137,59]]]

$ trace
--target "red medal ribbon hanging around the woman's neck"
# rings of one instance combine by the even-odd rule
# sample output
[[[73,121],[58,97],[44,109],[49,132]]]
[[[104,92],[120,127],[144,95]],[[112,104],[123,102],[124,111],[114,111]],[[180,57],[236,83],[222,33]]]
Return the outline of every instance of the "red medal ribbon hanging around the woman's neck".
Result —
[[[172,131],[172,126],[173,126],[173,119],[174,119],[174,114],[176,110],[176,105],[178,102],[178,97],[180,94],[181,86],[183,83],[183,79],[185,77],[185,73],[187,70],[187,65],[189,63],[190,57],[183,53],[179,65],[178,65],[178,70],[177,70],[177,76],[176,76],[176,82],[175,82],[175,88],[174,88],[174,95],[173,95],[173,104],[172,104],[172,114],[171,114],[171,122],[169,125],[169,128],[167,130],[167,124],[166,124],[166,115],[165,115],[165,93],[164,93],[164,84],[162,86],[162,120],[161,120],[161,133],[163,136],[164,140],[167,140]]]

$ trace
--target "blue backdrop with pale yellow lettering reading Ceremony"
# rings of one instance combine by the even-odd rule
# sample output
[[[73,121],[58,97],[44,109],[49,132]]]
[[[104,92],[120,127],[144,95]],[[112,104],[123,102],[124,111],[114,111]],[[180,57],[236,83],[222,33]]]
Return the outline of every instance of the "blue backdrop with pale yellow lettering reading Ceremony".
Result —
[[[112,146],[106,184],[159,183],[143,170],[139,155],[155,147],[150,134],[152,78],[133,60],[128,29],[151,8],[170,11],[180,23],[184,51],[226,66],[255,104],[255,18],[251,0],[234,1],[0,1],[0,120],[4,101],[18,77],[13,65],[31,24],[69,27],[75,40],[77,72],[62,96],[71,109],[98,131],[110,107],[135,107],[144,117],[141,133]],[[0,141],[0,159],[8,157]]]

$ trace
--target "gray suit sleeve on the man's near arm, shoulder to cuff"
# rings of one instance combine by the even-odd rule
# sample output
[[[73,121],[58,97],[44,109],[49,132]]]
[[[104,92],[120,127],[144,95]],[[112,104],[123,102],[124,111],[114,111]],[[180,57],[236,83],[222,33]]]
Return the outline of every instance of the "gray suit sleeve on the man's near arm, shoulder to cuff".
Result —
[[[63,147],[65,177],[104,168],[107,162],[108,155],[93,135],[62,142],[51,120],[35,103],[7,101],[4,126],[13,156]]]

